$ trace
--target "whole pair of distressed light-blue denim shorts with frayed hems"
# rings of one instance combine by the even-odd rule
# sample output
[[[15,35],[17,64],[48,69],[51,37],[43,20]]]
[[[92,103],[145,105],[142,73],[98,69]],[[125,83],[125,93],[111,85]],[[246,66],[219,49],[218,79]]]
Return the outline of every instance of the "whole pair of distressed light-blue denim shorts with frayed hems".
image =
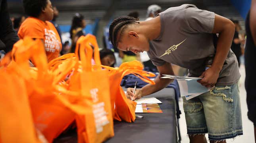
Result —
[[[243,135],[237,83],[217,86],[191,100],[183,97],[183,108],[188,135],[208,133],[213,141]]]

